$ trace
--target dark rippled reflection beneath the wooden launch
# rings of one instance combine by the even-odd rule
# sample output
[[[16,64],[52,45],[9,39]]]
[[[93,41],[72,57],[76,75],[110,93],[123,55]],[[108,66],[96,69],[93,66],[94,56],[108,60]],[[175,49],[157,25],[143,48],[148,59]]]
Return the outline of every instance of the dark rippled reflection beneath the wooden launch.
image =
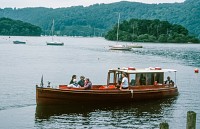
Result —
[[[109,125],[111,128],[152,128],[159,125],[159,119],[162,119],[166,110],[173,107],[176,99],[177,97],[120,105],[37,106],[35,123],[40,128],[44,128],[42,123],[50,124],[57,123],[57,121],[66,128],[81,128],[83,125],[85,127],[107,127],[106,125]],[[147,124],[149,122],[151,124]],[[56,128],[56,125],[50,124],[48,127]]]

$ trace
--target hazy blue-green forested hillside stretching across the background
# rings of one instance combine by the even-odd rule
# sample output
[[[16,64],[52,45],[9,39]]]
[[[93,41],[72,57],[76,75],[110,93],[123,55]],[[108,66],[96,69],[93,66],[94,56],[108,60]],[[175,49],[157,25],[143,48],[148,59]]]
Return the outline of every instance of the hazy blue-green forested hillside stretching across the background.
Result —
[[[88,7],[75,6],[56,9],[42,7],[22,9],[4,8],[0,9],[0,17],[17,19],[40,26],[43,34],[47,35],[51,29],[52,19],[55,19],[55,31],[58,32],[58,35],[91,36],[96,33],[97,36],[101,36],[116,24],[119,12],[121,13],[122,21],[132,18],[168,21],[163,22],[160,26],[156,26],[158,21],[154,21],[154,24],[149,26],[149,28],[143,26],[141,23],[137,28],[143,31],[138,32],[137,35],[153,30],[152,28],[154,30],[152,32],[149,31],[148,34],[154,35],[154,32],[157,32],[157,27],[163,29],[159,29],[159,31],[166,31],[166,28],[169,28],[169,23],[171,23],[184,26],[184,28],[189,30],[188,32],[186,29],[182,30],[177,26],[182,34],[187,35],[187,33],[190,33],[200,38],[199,0],[186,0],[184,3],[173,4],[143,4],[122,1],[112,4],[95,4]],[[77,27],[81,29],[79,30]],[[174,27],[176,28],[176,26]],[[131,28],[128,28],[128,32],[131,32]],[[94,30],[95,32],[92,32]],[[122,27],[121,30],[126,30],[126,28]],[[137,32],[137,30],[135,31]],[[158,34],[154,36],[158,38]]]

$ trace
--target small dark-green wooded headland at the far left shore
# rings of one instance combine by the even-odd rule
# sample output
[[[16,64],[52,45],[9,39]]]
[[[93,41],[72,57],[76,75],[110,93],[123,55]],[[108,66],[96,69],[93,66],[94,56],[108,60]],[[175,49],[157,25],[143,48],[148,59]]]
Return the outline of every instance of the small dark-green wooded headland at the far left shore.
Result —
[[[9,36],[40,36],[42,29],[38,26],[19,20],[0,18],[0,35]]]

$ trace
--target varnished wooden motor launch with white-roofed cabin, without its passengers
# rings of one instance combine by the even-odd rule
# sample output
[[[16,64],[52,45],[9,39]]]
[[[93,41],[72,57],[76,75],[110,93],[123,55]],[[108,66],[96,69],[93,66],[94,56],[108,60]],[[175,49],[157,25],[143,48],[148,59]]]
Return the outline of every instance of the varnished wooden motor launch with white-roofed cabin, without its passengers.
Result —
[[[175,80],[165,84],[165,74],[175,73]],[[59,85],[57,88],[36,85],[37,105],[64,105],[69,103],[124,103],[143,100],[158,100],[178,95],[176,70],[156,68],[116,68],[109,69],[107,84],[92,85],[92,88],[71,88]],[[128,89],[120,89],[121,75],[128,78]],[[143,83],[141,77],[144,77]]]

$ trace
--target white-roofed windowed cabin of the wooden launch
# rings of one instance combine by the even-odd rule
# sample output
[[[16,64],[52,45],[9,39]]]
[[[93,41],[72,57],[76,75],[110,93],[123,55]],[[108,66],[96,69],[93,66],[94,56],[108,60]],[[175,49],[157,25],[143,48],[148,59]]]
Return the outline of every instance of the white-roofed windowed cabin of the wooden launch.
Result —
[[[165,73],[175,73],[176,82],[176,70],[173,69],[162,69],[160,67],[137,69],[133,67],[110,69],[108,72],[107,85],[115,85],[116,87],[121,85],[122,73],[125,73],[128,78],[129,87],[132,86],[155,86],[165,85]]]

